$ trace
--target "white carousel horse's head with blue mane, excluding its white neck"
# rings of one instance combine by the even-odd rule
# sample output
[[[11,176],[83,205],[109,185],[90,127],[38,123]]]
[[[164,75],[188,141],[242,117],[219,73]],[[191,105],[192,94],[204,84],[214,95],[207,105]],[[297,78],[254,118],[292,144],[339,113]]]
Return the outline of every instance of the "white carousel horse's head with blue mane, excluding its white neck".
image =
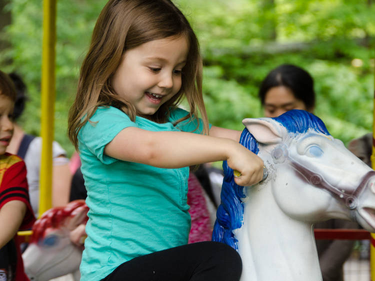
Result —
[[[375,171],[333,138],[318,117],[290,110],[276,118],[247,118],[243,124],[241,144],[257,153],[268,169],[263,182],[247,188],[270,187],[279,208],[293,219],[311,223],[351,219],[375,231]],[[232,230],[241,227],[247,192],[233,182],[227,165],[223,166],[223,206],[218,208],[213,239],[236,248]],[[228,192],[232,192],[230,200],[236,197],[230,207]]]

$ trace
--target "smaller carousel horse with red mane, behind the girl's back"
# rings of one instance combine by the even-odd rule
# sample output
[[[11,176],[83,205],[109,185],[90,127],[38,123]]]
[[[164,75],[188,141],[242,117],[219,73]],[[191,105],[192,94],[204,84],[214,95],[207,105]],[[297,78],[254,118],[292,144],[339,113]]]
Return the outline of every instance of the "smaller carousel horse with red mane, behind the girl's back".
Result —
[[[87,211],[84,200],[74,200],[64,207],[48,209],[36,220],[30,243],[22,254],[31,281],[47,281],[68,273],[79,280],[82,248],[71,242],[69,234],[86,223]]]

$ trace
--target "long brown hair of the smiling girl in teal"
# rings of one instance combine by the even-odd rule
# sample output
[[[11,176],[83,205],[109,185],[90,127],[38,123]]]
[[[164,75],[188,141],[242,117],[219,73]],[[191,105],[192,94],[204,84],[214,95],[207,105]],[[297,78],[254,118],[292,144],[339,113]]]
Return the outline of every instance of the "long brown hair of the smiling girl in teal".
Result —
[[[186,36],[189,50],[182,69],[180,90],[151,116],[165,122],[170,108],[181,101],[183,94],[190,115],[200,112],[204,133],[208,120],[202,97],[202,61],[197,38],[185,16],[170,0],[109,0],[96,21],[89,50],[83,60],[77,94],[68,116],[68,136],[75,148],[77,134],[100,105],[111,105],[135,120],[135,108],[117,95],[111,77],[128,49],[155,39]],[[186,116],[177,122],[187,119]]]

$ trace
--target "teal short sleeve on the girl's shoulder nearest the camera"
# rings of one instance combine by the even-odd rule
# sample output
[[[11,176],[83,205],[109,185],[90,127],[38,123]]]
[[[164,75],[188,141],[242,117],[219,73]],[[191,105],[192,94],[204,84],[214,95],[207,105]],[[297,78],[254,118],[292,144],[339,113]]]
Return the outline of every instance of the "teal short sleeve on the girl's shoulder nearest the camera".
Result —
[[[99,107],[80,129],[78,148],[81,153],[89,151],[104,164],[113,163],[117,159],[104,155],[104,147],[126,127],[137,127],[137,125],[115,107]]]

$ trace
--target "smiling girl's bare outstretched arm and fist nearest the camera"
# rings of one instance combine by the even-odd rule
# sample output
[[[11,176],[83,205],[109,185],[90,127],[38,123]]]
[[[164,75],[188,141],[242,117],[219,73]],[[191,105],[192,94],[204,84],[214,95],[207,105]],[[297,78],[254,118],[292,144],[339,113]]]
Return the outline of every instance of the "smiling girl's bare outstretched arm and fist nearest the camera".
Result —
[[[212,129],[213,134],[221,135],[221,129]],[[241,173],[234,179],[239,185],[252,185],[260,181],[263,174],[263,161],[237,140],[190,132],[154,132],[127,127],[105,146],[104,153],[120,160],[162,168],[227,160],[229,167]]]

